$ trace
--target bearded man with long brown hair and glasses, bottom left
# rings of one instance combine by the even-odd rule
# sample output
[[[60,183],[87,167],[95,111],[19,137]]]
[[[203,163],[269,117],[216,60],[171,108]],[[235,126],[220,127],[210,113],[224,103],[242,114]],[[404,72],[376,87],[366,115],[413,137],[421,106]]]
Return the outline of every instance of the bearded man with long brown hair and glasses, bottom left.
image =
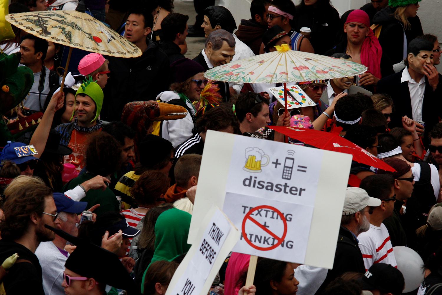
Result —
[[[23,181],[23,177],[28,181]],[[19,258],[3,278],[4,289],[7,294],[43,295],[42,268],[34,253],[40,242],[55,238],[45,224],[54,226],[57,207],[50,188],[41,180],[20,176],[11,184],[15,181],[22,181],[23,188],[9,195],[3,205],[0,261],[14,253],[18,253]]]

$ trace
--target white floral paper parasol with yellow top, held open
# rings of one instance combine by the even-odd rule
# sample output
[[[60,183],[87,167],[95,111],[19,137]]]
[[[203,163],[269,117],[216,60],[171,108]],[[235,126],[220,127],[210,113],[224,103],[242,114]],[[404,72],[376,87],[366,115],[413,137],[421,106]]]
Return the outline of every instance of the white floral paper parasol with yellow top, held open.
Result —
[[[276,47],[274,52],[214,67],[204,76],[234,83],[284,83],[349,77],[367,70],[352,61],[293,51],[286,44]]]

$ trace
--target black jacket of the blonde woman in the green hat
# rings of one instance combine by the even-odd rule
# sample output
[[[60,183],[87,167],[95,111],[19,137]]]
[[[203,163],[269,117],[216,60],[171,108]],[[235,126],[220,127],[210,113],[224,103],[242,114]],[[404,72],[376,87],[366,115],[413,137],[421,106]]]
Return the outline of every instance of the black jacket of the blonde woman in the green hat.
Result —
[[[382,51],[387,54],[392,65],[404,60],[404,27],[394,17],[394,8],[386,7],[378,11],[373,17],[373,23],[382,25],[379,34],[379,43]],[[411,29],[405,31],[407,44],[414,38],[423,34],[422,25],[418,16],[409,18]]]

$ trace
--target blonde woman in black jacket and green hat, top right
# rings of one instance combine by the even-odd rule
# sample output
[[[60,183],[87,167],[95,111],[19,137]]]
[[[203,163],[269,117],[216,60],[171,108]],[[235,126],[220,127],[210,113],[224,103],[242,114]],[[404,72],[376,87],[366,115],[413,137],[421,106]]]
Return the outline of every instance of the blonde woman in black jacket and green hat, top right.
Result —
[[[407,46],[423,34],[416,12],[421,0],[389,0],[373,17],[372,29],[392,65],[407,57]]]

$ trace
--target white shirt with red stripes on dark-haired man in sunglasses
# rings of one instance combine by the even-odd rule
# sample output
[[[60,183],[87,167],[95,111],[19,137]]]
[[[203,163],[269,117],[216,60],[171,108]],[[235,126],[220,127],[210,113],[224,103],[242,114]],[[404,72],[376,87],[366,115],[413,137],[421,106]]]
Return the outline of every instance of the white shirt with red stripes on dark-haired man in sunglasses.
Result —
[[[384,223],[381,226],[370,224],[370,229],[358,235],[359,249],[366,269],[376,263],[386,263],[397,267],[390,234]]]

